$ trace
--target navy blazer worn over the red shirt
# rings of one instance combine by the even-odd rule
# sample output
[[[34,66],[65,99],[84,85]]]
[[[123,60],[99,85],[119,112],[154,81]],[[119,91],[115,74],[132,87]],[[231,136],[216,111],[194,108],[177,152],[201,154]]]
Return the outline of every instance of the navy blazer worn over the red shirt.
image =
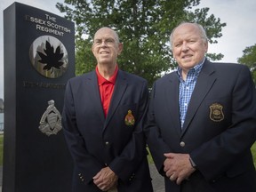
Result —
[[[105,118],[95,71],[68,81],[62,124],[74,159],[73,191],[100,191],[92,177],[109,166],[118,192],[153,191],[142,130],[148,106],[147,81],[118,70]],[[131,110],[135,122],[125,124]]]

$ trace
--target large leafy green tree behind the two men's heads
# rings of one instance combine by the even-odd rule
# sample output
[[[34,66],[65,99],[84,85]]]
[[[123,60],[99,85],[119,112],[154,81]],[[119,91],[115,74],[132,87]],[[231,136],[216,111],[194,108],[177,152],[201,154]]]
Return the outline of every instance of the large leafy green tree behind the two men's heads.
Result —
[[[124,43],[118,59],[119,68],[142,76],[149,86],[164,72],[177,66],[170,51],[169,36],[181,21],[196,21],[206,28],[211,44],[226,23],[220,23],[209,8],[196,9],[200,0],[65,0],[56,6],[66,18],[76,23],[76,74],[95,68],[91,52],[92,38],[101,27],[114,28]],[[209,54],[220,60],[222,54]]]

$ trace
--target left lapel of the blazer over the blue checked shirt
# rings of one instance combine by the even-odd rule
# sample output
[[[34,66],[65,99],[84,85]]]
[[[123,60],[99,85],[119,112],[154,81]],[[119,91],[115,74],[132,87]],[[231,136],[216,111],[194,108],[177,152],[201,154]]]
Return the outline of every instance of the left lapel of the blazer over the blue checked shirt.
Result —
[[[172,126],[175,127],[177,133],[180,135],[180,105],[179,105],[179,78],[175,73],[170,75],[170,81],[166,84],[165,96],[167,106],[170,110],[170,118],[172,119]]]

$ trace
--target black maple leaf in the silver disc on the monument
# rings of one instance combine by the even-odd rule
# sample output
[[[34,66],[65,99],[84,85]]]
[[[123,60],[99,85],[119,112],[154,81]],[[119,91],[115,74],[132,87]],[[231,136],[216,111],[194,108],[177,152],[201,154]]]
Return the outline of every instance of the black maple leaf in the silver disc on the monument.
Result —
[[[60,45],[56,48],[55,52],[53,46],[48,41],[46,41],[45,47],[45,54],[37,51],[41,58],[38,62],[46,64],[43,68],[44,70],[50,70],[52,68],[52,73],[53,68],[60,68],[60,66],[63,65],[63,62],[60,61],[63,57],[63,53],[60,53]]]

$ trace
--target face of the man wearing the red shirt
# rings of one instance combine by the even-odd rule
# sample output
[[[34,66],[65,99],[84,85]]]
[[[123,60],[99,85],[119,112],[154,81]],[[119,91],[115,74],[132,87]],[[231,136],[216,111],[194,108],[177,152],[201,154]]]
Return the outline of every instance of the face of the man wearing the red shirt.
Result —
[[[93,40],[92,52],[98,64],[116,64],[117,55],[123,44],[117,43],[115,33],[110,28],[100,28]]]

